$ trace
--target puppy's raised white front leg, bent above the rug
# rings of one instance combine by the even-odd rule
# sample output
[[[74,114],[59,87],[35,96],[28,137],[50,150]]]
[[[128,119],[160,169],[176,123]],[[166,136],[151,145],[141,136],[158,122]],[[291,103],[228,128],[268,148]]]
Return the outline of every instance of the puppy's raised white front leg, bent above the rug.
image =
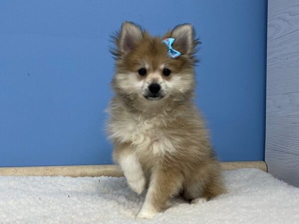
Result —
[[[114,160],[116,160],[127,178],[128,185],[137,194],[145,190],[146,178],[141,163],[130,145],[118,145],[114,149]]]

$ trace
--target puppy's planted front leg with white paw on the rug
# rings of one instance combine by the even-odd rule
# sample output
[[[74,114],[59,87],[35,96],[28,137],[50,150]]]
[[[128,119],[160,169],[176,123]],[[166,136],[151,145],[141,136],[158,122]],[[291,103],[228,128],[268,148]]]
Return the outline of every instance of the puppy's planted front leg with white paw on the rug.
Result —
[[[137,219],[150,219],[162,211],[167,200],[179,192],[182,182],[183,176],[178,170],[161,166],[153,170],[149,190]]]

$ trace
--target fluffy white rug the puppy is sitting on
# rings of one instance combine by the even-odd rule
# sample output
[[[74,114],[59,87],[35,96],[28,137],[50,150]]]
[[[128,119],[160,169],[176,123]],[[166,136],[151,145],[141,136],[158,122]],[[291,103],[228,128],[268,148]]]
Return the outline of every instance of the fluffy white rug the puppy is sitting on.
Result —
[[[299,224],[299,188],[258,169],[225,171],[229,193],[190,205],[179,199],[152,220],[135,220],[145,193],[125,178],[0,177],[0,223]]]

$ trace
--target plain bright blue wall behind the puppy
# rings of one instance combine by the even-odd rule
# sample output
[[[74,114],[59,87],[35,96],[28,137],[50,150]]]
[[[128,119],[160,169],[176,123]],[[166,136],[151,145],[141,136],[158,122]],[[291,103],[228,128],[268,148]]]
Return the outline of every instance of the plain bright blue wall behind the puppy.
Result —
[[[193,23],[196,102],[223,161],[263,160],[266,0],[0,1],[0,166],[112,163],[109,35]]]

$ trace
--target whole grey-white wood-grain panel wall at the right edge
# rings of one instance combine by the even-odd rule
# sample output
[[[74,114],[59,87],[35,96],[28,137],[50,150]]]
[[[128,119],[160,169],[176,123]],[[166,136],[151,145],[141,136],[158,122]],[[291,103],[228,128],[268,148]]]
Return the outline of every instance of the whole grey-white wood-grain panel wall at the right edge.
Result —
[[[299,187],[299,0],[268,0],[265,160]]]

